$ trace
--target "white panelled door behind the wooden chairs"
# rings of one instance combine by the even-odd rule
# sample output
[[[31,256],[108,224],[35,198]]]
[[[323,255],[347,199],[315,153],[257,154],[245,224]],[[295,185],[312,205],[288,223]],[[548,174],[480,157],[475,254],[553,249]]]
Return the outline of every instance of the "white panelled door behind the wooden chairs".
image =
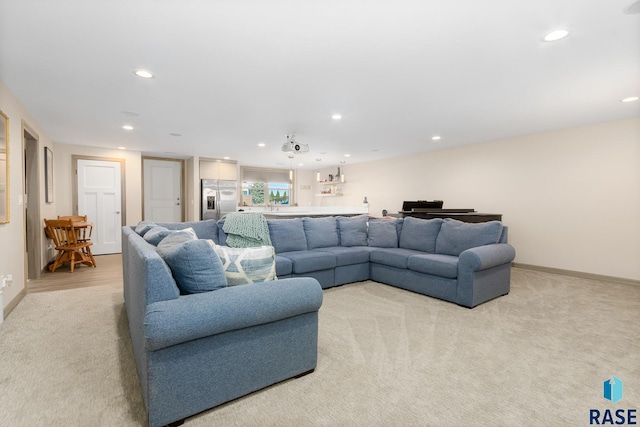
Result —
[[[120,162],[78,159],[78,215],[93,222],[94,255],[122,252]]]

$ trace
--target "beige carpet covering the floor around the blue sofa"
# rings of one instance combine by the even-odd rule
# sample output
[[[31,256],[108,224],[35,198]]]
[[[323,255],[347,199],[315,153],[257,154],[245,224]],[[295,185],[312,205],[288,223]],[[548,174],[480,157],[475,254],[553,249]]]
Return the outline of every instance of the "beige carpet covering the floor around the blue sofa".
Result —
[[[374,282],[329,289],[313,374],[185,425],[564,426],[640,408],[640,287],[512,276],[471,310]],[[145,421],[118,286],[29,294],[0,325],[0,425]]]

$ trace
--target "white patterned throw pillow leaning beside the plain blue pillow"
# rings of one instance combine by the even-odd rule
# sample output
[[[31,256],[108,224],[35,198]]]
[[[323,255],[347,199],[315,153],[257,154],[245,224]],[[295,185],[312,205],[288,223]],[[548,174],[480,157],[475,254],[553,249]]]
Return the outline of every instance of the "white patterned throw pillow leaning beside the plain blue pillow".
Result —
[[[222,261],[227,286],[276,280],[276,254],[273,246],[231,248],[214,244],[213,248]]]

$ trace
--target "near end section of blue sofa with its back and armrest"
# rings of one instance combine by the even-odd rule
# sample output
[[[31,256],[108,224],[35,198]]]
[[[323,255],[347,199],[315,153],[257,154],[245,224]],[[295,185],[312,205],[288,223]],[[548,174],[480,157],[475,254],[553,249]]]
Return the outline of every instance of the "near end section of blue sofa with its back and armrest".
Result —
[[[214,237],[209,231],[203,235]],[[181,295],[155,247],[131,227],[122,233],[125,307],[150,426],[315,369],[322,304],[315,279]]]

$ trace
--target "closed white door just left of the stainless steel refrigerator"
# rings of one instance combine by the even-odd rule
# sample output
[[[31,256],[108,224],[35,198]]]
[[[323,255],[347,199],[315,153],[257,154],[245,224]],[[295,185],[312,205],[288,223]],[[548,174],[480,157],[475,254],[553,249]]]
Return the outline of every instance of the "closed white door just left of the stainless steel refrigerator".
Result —
[[[182,221],[182,162],[143,159],[144,216],[154,222]]]

